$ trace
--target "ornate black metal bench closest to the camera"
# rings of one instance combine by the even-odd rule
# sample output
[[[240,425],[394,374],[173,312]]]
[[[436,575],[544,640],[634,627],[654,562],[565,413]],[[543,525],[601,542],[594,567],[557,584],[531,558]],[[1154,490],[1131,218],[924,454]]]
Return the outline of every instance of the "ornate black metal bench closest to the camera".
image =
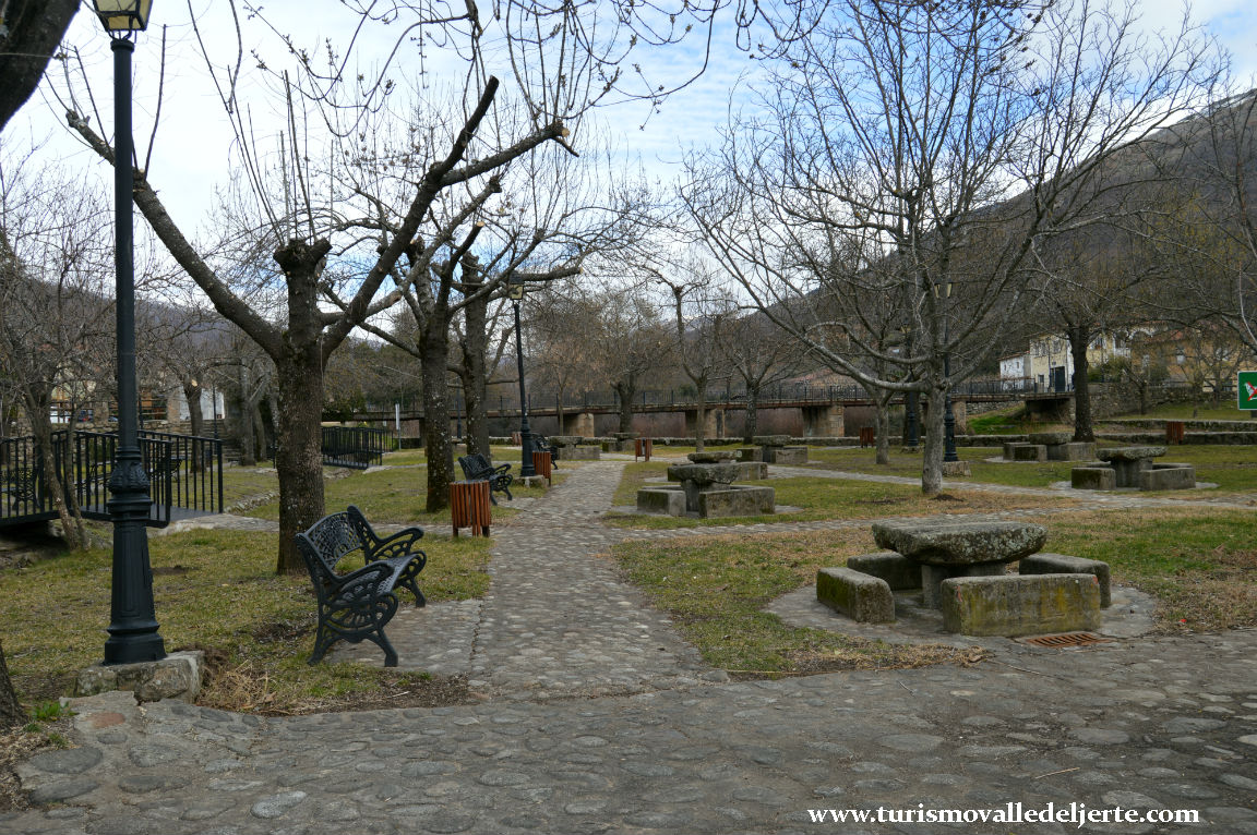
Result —
[[[422,536],[421,527],[407,527],[381,537],[353,505],[297,535],[297,550],[318,595],[318,632],[308,663],[322,660],[337,640],[356,644],[366,639],[385,650],[385,667],[397,665],[397,650],[385,637],[385,624],[397,611],[397,586],[415,595],[415,605],[427,603],[415,581],[427,564],[427,555],[415,547]],[[337,574],[337,563],[352,551],[362,551],[366,565]]]

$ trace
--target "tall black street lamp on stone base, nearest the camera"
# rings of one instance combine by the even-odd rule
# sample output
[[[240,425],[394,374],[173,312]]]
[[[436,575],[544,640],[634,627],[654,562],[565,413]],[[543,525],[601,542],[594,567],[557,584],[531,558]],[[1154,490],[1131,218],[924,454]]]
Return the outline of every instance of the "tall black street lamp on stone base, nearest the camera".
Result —
[[[113,516],[113,584],[106,664],[161,660],[153,575],[148,564],[152,498],[140,452],[140,398],[136,385],[136,281],[133,264],[131,138],[131,53],[134,33],[148,25],[151,0],[93,0],[113,49],[113,186],[117,225],[118,446],[109,475]]]

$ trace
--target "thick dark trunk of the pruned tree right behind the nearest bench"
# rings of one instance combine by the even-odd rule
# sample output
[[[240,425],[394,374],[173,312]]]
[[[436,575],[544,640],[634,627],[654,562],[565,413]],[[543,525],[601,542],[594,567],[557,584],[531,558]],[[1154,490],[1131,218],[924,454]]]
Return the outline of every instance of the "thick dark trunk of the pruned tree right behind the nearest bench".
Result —
[[[294,537],[323,516],[323,357],[319,344],[275,363],[279,413],[275,416],[279,475],[278,574],[299,574],[305,564]]]

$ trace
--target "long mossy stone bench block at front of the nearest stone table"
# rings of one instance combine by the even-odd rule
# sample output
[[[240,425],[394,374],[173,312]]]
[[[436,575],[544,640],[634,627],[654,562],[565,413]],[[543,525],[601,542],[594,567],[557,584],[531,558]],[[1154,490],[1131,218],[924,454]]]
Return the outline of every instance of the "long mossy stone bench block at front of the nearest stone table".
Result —
[[[1100,628],[1090,574],[1006,574],[943,581],[943,628],[962,635],[1037,635]]]

